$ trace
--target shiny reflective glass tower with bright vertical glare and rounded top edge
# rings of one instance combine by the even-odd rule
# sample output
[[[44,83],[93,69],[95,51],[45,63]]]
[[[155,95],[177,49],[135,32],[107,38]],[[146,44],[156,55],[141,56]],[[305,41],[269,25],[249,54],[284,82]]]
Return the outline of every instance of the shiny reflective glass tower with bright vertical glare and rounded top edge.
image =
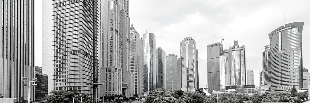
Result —
[[[153,33],[143,34],[144,92],[156,89],[156,40]]]

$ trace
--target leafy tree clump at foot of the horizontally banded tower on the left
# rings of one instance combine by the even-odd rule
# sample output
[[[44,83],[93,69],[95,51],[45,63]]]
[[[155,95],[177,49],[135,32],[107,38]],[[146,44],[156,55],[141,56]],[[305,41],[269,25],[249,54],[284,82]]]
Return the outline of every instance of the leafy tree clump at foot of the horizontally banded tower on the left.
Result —
[[[78,91],[51,91],[49,95],[45,95],[45,103],[72,103],[74,98],[74,103],[92,103],[90,97],[79,95],[82,94]],[[77,96],[79,95],[79,96]],[[83,96],[83,97],[82,97]],[[82,97],[82,102],[81,102]]]

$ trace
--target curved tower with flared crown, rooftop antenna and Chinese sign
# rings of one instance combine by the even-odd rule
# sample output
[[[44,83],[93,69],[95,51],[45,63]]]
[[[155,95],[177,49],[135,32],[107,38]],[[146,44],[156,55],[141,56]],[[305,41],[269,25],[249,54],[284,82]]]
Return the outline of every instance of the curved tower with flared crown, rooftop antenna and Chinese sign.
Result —
[[[271,89],[303,88],[302,32],[304,22],[285,24],[268,34],[271,49]]]

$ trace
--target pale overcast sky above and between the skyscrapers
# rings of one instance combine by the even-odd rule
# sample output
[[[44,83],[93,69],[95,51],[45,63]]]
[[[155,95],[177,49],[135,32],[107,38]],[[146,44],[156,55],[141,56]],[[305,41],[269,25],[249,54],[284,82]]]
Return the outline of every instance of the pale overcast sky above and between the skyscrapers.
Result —
[[[36,66],[42,66],[42,0],[35,1]],[[199,56],[199,83],[207,84],[207,45],[221,40],[232,46],[246,45],[246,69],[254,70],[254,84],[259,85],[263,46],[268,34],[284,24],[305,22],[303,28],[303,67],[310,68],[310,0],[129,0],[131,23],[140,33],[152,32],[156,46],[166,54],[180,56],[180,42],[192,37]],[[215,36],[213,36],[215,35]],[[224,44],[224,49],[228,45]]]

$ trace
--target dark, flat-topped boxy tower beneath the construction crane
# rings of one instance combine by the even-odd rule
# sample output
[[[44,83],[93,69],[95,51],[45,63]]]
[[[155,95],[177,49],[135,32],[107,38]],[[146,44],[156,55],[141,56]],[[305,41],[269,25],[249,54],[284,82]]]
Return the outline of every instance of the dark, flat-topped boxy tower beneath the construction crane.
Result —
[[[209,93],[220,90],[219,53],[223,51],[223,45],[219,42],[207,45],[207,71]]]

